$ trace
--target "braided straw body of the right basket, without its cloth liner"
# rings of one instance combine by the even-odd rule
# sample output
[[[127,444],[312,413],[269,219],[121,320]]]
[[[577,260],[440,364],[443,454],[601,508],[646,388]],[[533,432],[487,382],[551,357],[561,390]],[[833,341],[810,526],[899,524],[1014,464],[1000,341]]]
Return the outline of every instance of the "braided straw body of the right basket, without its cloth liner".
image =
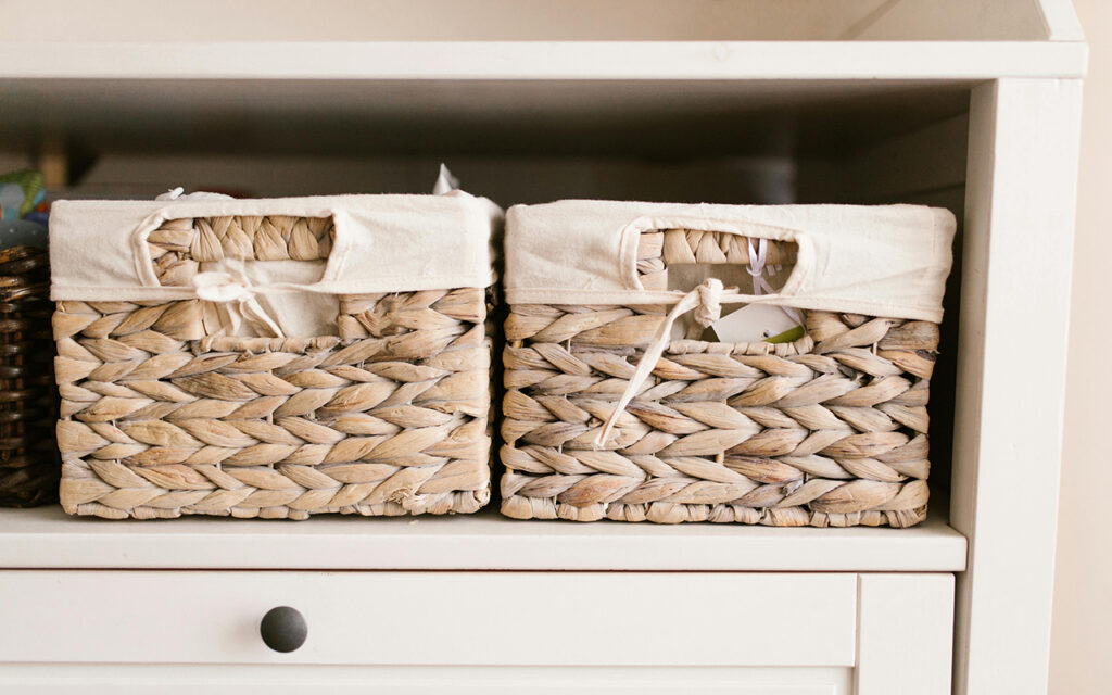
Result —
[[[744,246],[715,232],[643,234],[638,272],[647,289],[666,289],[668,265],[744,264]],[[937,325],[807,311],[795,342],[674,340],[596,449],[668,308],[510,306],[504,514],[773,526],[925,518]]]

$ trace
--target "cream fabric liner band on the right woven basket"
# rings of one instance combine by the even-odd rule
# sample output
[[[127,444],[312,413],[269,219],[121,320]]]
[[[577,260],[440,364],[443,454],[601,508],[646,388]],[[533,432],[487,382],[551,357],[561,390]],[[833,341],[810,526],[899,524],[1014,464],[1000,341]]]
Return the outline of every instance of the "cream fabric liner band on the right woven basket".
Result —
[[[725,206],[563,200],[506,216],[509,304],[675,304],[637,279],[643,231],[696,229],[797,245],[774,294],[726,291],[723,304],[768,302],[940,322],[956,220],[922,206]]]

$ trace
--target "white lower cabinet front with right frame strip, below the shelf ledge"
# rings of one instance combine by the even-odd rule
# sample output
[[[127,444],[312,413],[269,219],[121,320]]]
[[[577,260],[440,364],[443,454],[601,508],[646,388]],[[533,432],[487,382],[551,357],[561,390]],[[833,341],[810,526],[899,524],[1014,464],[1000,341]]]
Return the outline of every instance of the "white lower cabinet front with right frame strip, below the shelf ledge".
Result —
[[[0,615],[0,685],[19,692],[49,691],[92,664],[137,674],[160,664],[186,681],[189,665],[227,666],[245,682],[268,675],[230,666],[359,666],[384,692],[399,667],[421,666],[448,679],[424,674],[428,685],[413,692],[532,691],[553,687],[548,673],[593,673],[603,681],[585,691],[631,692],[616,674],[633,666],[658,671],[659,688],[683,674],[743,692],[847,693],[850,676],[863,694],[950,684],[949,574],[7,570],[0,587],[24,597]],[[280,605],[309,627],[288,654],[259,636]],[[499,682],[493,667],[516,677]],[[346,671],[302,673],[326,685]]]

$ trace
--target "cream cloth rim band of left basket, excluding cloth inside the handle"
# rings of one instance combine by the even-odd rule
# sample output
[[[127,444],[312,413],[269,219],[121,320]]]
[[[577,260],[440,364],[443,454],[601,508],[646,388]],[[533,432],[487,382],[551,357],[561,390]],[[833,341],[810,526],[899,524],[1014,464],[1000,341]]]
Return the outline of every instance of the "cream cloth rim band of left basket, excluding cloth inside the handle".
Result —
[[[463,191],[443,196],[332,196],[256,200],[59,200],[50,214],[53,300],[168,300],[147,237],[167,219],[231,215],[331,217],[336,241],[319,282],[304,291],[347,295],[488,287],[490,237],[500,210]]]

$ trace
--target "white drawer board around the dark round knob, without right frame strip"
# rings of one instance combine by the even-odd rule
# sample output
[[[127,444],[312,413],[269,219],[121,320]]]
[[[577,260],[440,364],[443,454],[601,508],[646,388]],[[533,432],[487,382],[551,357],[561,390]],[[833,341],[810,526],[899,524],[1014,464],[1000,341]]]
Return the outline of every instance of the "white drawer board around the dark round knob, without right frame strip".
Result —
[[[853,666],[857,576],[0,572],[0,662]],[[297,608],[304,646],[259,622]]]

